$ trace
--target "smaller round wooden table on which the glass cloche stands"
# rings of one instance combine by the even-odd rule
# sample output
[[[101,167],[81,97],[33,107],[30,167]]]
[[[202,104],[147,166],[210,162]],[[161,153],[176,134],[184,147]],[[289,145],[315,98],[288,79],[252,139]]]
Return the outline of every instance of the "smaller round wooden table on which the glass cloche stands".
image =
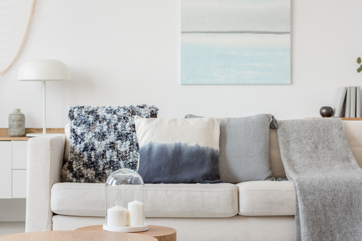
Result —
[[[76,230],[103,231],[103,225],[87,226],[83,228],[77,228]],[[103,231],[103,232],[108,232],[108,231]],[[176,241],[176,229],[173,228],[149,225],[149,229],[147,231],[137,232],[137,233],[155,237],[157,238],[158,241]]]

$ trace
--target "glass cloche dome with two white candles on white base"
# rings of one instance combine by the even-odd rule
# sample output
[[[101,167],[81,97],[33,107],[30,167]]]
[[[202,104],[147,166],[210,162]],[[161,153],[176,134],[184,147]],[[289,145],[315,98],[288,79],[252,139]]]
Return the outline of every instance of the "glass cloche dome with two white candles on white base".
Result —
[[[106,223],[103,229],[116,232],[148,230],[144,206],[142,177],[127,168],[115,171],[106,181]]]

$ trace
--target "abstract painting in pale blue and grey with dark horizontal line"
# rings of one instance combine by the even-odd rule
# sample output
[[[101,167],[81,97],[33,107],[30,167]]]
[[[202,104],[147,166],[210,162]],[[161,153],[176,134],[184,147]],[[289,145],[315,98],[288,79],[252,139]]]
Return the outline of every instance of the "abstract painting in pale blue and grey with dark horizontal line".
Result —
[[[181,0],[181,84],[290,84],[290,0]]]

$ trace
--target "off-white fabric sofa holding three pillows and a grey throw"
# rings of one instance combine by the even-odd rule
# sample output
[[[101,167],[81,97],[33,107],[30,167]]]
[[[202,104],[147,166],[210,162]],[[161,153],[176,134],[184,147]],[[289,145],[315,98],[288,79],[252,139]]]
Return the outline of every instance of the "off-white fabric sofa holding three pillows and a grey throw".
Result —
[[[362,121],[344,125],[362,166]],[[60,182],[65,143],[65,135],[28,141],[26,232],[105,223],[104,184]],[[270,130],[269,151],[273,176],[285,177],[275,130]],[[146,184],[145,195],[146,222],[176,229],[178,241],[295,239],[290,181]]]

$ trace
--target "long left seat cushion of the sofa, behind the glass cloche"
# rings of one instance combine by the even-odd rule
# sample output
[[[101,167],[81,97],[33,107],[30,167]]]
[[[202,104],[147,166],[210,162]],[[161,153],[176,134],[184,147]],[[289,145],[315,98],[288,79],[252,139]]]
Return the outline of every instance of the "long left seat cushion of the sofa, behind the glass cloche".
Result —
[[[231,183],[145,185],[146,217],[231,217],[237,203]],[[104,183],[56,183],[50,205],[56,214],[104,217]]]

